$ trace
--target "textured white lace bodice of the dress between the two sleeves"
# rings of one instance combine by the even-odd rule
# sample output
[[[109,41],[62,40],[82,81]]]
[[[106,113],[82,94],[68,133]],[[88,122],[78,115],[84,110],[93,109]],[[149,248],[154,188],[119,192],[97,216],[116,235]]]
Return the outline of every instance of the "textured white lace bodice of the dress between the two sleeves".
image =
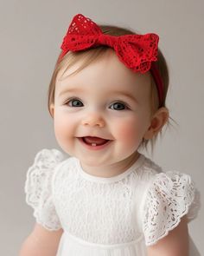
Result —
[[[76,159],[69,159],[54,180],[54,200],[65,230],[103,245],[138,240],[142,233],[132,225],[136,180],[131,172],[120,181],[90,181],[80,174]]]

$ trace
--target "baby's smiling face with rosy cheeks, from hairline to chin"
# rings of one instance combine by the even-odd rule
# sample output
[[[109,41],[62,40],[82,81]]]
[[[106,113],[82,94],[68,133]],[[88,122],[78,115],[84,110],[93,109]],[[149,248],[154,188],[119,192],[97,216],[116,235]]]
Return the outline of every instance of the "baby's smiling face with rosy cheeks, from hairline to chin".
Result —
[[[124,162],[137,154],[150,126],[150,74],[133,73],[111,49],[67,76],[79,64],[57,77],[51,108],[56,139],[86,167]]]

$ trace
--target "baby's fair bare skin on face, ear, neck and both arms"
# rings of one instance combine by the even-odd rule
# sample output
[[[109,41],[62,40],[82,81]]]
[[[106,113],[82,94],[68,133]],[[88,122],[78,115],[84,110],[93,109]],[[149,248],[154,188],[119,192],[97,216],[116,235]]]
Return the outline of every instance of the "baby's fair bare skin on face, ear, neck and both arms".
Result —
[[[150,73],[133,73],[118,61],[112,49],[80,73],[70,75],[78,65],[80,62],[64,75],[62,69],[57,77],[54,103],[50,106],[56,139],[67,154],[80,160],[81,167],[88,174],[100,177],[121,174],[137,161],[137,148],[143,138],[149,140],[163,128],[169,111],[159,108],[150,114]],[[120,93],[114,93],[115,90]],[[124,95],[126,93],[135,100]],[[73,107],[73,97],[80,107]],[[120,102],[119,108],[123,107],[121,102],[127,108],[115,109],[116,102]],[[111,142],[105,149],[93,151],[85,148],[78,139],[87,135]],[[48,231],[36,223],[24,241],[20,255],[56,255],[62,233],[62,229]],[[147,254],[188,256],[186,216],[156,245],[148,246]]]

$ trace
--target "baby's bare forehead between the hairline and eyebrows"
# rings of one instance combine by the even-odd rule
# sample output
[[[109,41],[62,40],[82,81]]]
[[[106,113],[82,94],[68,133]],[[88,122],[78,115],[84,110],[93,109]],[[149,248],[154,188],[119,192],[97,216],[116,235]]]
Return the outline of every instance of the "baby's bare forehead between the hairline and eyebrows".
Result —
[[[100,90],[101,93],[121,89],[141,96],[147,95],[150,91],[150,72],[146,74],[133,72],[119,61],[112,49],[72,75],[83,62],[80,60],[69,69],[60,70],[56,78],[57,93],[70,87]]]

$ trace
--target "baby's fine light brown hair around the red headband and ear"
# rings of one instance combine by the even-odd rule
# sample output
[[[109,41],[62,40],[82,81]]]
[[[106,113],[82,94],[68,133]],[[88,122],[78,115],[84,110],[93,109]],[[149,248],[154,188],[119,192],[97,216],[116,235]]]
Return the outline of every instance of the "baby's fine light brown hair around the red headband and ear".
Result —
[[[120,28],[117,26],[108,26],[108,25],[99,25],[100,29],[103,31],[104,34],[107,35],[112,35],[112,36],[123,36],[123,35],[130,35],[130,34],[136,34],[135,32],[131,30],[127,30],[124,28]],[[51,82],[49,84],[49,89],[48,89],[48,110],[49,113],[51,114],[50,111],[50,105],[54,103],[54,91],[55,91],[55,82],[56,82],[56,77],[59,74],[59,71],[61,69],[65,69],[64,73],[68,68],[73,66],[74,63],[78,62],[79,60],[83,61],[80,68],[75,70],[73,74],[80,72],[81,69],[84,69],[88,64],[91,62],[96,61],[100,56],[103,56],[105,51],[110,49],[109,47],[106,46],[99,46],[97,48],[93,49],[86,49],[84,51],[79,51],[79,52],[72,52],[69,51],[61,60],[61,62],[56,62],[55,67],[54,67],[54,73],[51,78]],[[157,55],[157,61],[156,61],[156,67],[160,72],[160,75],[162,76],[163,79],[163,86],[164,86],[164,94],[163,94],[163,102],[162,102],[162,107],[166,108],[166,96],[167,96],[167,91],[169,88],[169,70],[167,63],[165,61],[165,58],[161,52],[160,49],[158,49],[158,55]],[[154,114],[156,109],[158,109],[158,96],[157,96],[157,89],[156,89],[156,84],[153,80],[153,77],[151,79],[151,91],[150,91],[150,102],[151,102],[151,114]],[[51,114],[52,115],[52,114]],[[169,117],[169,119],[171,119]],[[173,120],[173,119],[172,119]],[[167,126],[169,126],[170,122],[169,120],[167,121]],[[162,129],[159,132],[160,135],[162,135]],[[151,151],[153,151],[154,145],[156,143],[156,138],[159,135],[155,135],[153,139],[151,140],[143,140],[141,142],[140,147],[147,149],[147,145],[149,144],[150,141],[150,146],[151,146]]]

